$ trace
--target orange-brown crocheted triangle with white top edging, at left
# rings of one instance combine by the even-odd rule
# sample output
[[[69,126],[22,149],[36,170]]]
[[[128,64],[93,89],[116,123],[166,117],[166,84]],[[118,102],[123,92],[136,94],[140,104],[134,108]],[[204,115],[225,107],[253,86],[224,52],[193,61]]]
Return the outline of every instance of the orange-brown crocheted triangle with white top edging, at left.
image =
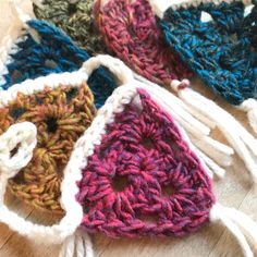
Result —
[[[37,144],[33,158],[9,181],[9,188],[15,196],[36,208],[62,212],[59,198],[63,169],[74,143],[93,121],[94,97],[86,83],[76,86],[64,83],[48,86],[46,82],[42,85],[35,88],[33,85],[29,88],[26,85],[16,85],[16,89],[10,88],[7,94],[1,95],[0,134],[4,134],[11,125],[24,122],[36,126]],[[17,134],[16,137],[22,138],[22,135]],[[8,151],[12,158],[10,163],[15,168],[20,166],[20,161],[15,161],[15,154],[22,143],[12,145],[11,139],[8,142],[4,152]],[[5,164],[1,162],[1,169]]]

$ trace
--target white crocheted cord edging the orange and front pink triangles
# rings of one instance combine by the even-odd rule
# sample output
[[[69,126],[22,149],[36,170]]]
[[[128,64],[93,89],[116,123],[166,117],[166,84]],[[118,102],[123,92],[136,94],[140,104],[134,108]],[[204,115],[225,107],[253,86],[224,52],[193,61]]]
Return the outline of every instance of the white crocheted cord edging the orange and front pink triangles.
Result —
[[[29,79],[20,85],[14,85],[7,91],[0,91],[0,107],[4,107],[8,106],[10,100],[16,98],[19,91],[29,95],[41,90],[46,85],[51,88],[56,88],[60,84],[73,85],[75,87],[83,81],[87,81],[90,73],[100,64],[108,66],[109,70],[117,75],[118,79],[122,82],[123,86],[118,87],[113,91],[112,96],[106,101],[106,105],[98,111],[91,125],[75,143],[71,158],[64,169],[61,184],[62,194],[60,203],[65,210],[63,219],[58,224],[45,227],[26,221],[9,210],[4,205],[5,186],[8,179],[14,176],[19,170],[4,170],[0,175],[0,221],[8,224],[20,234],[26,235],[37,242],[50,244],[61,243],[68,236],[72,235],[79,225],[83,218],[83,209],[75,200],[75,195],[78,193],[76,182],[82,179],[82,169],[86,167],[87,158],[94,154],[95,146],[101,143],[101,136],[106,133],[106,125],[113,122],[114,115],[122,112],[124,106],[135,99],[137,88],[146,89],[151,95],[152,99],[161,105],[168,113],[170,113],[170,109],[168,108],[169,101],[162,99],[162,94],[159,93],[159,89],[135,81],[131,70],[126,68],[123,62],[108,56],[98,56],[89,59],[78,72],[51,74],[46,77]],[[169,99],[169,97],[167,99]],[[139,105],[138,99],[137,101],[135,99],[135,102]],[[180,132],[192,149],[194,149],[184,131],[181,128]],[[201,164],[205,167],[204,163]]]

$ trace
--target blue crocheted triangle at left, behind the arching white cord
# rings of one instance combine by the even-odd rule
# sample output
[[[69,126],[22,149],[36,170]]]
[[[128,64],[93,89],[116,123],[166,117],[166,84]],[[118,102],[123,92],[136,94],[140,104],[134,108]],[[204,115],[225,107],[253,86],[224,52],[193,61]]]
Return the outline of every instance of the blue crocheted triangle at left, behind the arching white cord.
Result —
[[[39,41],[28,32],[17,40],[17,50],[10,53],[11,61],[5,65],[8,72],[2,75],[0,89],[5,90],[27,78],[76,71],[90,58],[53,25],[39,20],[29,20],[27,25],[37,33]],[[115,82],[111,73],[99,68],[89,77],[88,86],[95,96],[95,105],[99,108],[112,94]]]

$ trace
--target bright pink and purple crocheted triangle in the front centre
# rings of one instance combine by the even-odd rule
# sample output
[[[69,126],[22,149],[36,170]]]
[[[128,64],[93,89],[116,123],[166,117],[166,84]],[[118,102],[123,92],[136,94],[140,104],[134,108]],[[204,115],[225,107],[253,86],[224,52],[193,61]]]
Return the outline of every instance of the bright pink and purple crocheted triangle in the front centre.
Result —
[[[142,108],[131,102],[115,114],[83,170],[82,227],[111,237],[185,235],[208,220],[211,180],[173,119],[147,91],[138,95]]]

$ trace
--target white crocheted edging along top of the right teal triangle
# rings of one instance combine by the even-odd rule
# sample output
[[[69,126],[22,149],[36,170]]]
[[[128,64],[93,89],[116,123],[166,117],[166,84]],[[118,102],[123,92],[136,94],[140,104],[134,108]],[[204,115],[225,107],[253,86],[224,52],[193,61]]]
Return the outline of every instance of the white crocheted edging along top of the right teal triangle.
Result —
[[[163,17],[163,14],[167,9],[172,8],[176,10],[179,8],[189,8],[189,7],[198,7],[200,3],[212,2],[215,4],[220,4],[221,2],[236,2],[242,1],[244,4],[250,4],[252,0],[148,0],[152,12],[159,16]]]

